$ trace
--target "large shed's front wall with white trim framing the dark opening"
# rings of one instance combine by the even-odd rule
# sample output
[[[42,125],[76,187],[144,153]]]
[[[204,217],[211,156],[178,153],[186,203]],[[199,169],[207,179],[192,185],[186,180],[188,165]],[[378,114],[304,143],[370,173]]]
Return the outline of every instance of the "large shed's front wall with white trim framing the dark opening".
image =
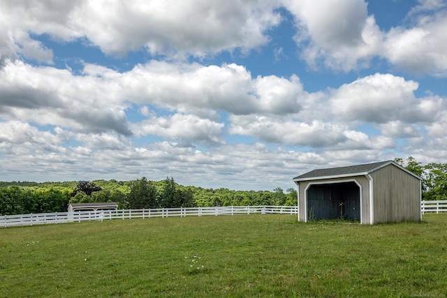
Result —
[[[362,187],[361,189],[361,202],[360,209],[362,211],[361,214],[361,222],[368,224],[370,222],[369,218],[369,181],[365,176],[356,176],[356,177],[346,177],[346,178],[335,178],[335,179],[320,179],[320,180],[312,180],[312,181],[300,181],[298,184],[298,221],[306,221],[306,188],[309,186],[309,183],[312,184],[332,184],[339,183],[342,181],[352,181],[356,180],[358,184]]]

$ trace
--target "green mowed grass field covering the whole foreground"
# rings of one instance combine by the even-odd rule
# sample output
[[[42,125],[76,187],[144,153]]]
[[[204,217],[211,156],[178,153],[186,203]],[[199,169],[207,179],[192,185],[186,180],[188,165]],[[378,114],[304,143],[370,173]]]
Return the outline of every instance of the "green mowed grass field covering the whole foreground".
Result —
[[[447,214],[126,219],[0,229],[0,297],[446,297]]]

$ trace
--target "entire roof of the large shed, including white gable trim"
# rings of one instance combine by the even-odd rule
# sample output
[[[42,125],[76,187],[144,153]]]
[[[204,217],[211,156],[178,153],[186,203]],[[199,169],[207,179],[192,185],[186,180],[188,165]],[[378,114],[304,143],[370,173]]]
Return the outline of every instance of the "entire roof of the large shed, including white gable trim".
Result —
[[[399,167],[401,170],[408,172],[414,177],[420,179],[420,177],[413,172],[406,170],[405,167],[398,165],[394,161],[380,161],[378,163],[365,163],[362,165],[349,165],[347,167],[330,167],[326,169],[312,170],[300,176],[293,178],[293,181],[306,181],[306,180],[316,180],[316,179],[330,179],[330,178],[339,178],[339,177],[351,177],[351,176],[360,176],[366,175],[376,170],[379,170],[381,167],[385,167],[386,165],[393,164]]]

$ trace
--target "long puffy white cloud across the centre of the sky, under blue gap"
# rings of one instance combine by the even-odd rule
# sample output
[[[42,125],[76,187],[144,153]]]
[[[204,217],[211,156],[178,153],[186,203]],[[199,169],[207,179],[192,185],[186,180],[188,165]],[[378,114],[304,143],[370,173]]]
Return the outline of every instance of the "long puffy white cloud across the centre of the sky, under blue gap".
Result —
[[[232,114],[297,112],[298,98],[305,94],[295,75],[290,79],[273,75],[252,79],[246,68],[236,64],[202,66],[151,61],[125,73],[122,84],[127,88],[127,97],[137,103],[214,118],[215,110]]]

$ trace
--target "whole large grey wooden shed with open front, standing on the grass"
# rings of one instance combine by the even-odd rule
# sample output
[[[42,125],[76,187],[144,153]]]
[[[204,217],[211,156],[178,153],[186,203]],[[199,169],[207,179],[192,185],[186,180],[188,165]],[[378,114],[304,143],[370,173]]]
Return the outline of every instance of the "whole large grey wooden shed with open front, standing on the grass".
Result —
[[[313,170],[293,178],[298,221],[420,221],[422,179],[394,161]]]

